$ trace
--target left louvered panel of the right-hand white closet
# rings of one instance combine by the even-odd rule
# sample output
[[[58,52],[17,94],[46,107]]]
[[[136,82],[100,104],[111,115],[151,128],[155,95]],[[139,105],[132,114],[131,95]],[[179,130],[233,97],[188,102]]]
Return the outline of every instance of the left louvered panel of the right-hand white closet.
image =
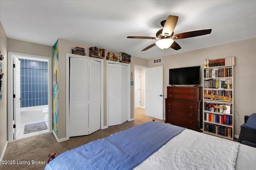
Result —
[[[108,125],[121,124],[120,64],[108,63]]]

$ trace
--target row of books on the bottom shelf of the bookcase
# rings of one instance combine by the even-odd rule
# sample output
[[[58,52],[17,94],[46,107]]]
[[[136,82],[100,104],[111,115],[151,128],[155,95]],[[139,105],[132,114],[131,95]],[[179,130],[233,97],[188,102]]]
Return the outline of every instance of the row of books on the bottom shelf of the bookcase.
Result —
[[[215,133],[215,134],[225,136],[225,137],[230,137],[230,138],[233,137],[232,127],[226,127],[226,126],[221,126],[221,125],[205,123],[204,131],[207,131],[210,133]]]

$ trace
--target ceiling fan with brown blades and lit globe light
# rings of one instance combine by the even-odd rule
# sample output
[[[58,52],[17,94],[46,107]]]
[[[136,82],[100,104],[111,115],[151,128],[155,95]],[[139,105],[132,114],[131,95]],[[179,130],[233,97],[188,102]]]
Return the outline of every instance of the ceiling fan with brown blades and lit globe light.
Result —
[[[180,45],[174,41],[174,39],[182,39],[189,37],[197,37],[200,35],[210,34],[212,29],[203,29],[198,31],[190,31],[185,33],[174,34],[173,30],[177,24],[178,16],[168,16],[167,20],[161,22],[161,25],[164,27],[156,32],[156,37],[142,37],[142,36],[128,36],[127,38],[137,38],[137,39],[157,39],[155,43],[144,48],[142,51],[146,51],[151,47],[157,45],[160,49],[172,49],[179,50],[181,49]]]

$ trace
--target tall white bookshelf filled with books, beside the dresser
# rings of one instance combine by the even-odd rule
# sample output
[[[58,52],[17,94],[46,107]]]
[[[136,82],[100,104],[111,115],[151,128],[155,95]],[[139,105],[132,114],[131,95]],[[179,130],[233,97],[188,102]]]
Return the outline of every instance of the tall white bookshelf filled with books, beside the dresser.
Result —
[[[203,70],[203,132],[234,140],[234,65]]]

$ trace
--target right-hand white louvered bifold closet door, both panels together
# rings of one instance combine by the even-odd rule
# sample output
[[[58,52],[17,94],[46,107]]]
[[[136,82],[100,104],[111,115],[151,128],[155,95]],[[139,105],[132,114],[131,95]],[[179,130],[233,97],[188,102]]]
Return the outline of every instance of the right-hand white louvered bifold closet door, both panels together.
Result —
[[[108,125],[128,120],[128,66],[108,63]]]

